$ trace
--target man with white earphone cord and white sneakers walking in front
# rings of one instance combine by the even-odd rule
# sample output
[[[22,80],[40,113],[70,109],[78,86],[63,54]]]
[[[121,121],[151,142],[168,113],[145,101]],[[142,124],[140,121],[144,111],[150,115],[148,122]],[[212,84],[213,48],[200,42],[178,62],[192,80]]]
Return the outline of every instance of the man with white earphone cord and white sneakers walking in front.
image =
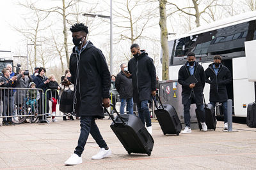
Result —
[[[100,147],[100,152],[92,159],[102,159],[111,155],[111,150],[102,138],[95,118],[104,118],[102,103],[109,107],[110,73],[106,59],[90,41],[86,41],[88,27],[75,24],[70,27],[74,43],[70,55],[70,80],[74,84],[74,103],[76,112],[81,116],[80,136],[74,153],[65,162],[66,165],[82,163],[81,155],[89,134]]]

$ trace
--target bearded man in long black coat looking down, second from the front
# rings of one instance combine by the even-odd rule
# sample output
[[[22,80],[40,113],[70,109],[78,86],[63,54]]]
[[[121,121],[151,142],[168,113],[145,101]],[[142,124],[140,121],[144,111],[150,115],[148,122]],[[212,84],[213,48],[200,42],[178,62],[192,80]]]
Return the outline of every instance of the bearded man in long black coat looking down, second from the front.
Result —
[[[131,53],[134,57],[129,60],[129,73],[125,75],[132,78],[133,101],[137,104],[141,122],[144,125],[146,122],[147,130],[152,134],[148,101],[151,96],[156,96],[156,67],[153,59],[145,50],[140,50],[138,44],[131,45]]]

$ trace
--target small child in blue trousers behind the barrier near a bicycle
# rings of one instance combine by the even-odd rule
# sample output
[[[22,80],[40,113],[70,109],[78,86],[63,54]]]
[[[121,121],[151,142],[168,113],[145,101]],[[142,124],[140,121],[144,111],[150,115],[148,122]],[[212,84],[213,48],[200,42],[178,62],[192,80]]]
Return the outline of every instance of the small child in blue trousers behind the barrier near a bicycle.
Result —
[[[27,105],[31,106],[31,113],[35,113],[35,107],[37,106],[37,101],[38,99],[40,99],[40,92],[38,90],[33,90],[36,88],[36,84],[32,81],[29,83],[29,89],[28,90],[28,93],[27,93],[27,98],[28,98],[28,101],[27,101]],[[37,113],[35,113],[36,115]]]

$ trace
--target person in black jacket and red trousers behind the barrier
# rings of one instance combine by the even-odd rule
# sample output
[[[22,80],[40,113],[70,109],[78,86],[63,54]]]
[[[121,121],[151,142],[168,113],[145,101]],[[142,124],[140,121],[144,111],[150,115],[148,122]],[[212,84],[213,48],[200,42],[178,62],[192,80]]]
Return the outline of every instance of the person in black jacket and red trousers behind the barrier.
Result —
[[[49,94],[49,99],[52,101],[52,122],[58,122],[56,120],[55,115],[56,115],[56,105],[57,105],[57,100],[59,99],[59,94],[57,90],[60,90],[61,87],[58,84],[58,82],[55,80],[55,77],[53,74],[49,75],[49,89],[51,89],[51,93]]]

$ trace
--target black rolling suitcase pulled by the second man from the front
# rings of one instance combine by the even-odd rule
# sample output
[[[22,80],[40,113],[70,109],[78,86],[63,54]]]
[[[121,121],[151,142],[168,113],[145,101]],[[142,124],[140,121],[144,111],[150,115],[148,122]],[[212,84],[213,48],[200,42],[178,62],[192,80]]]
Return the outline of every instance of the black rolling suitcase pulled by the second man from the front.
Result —
[[[155,110],[155,115],[161,126],[161,129],[165,134],[179,135],[182,129],[180,119],[173,106],[170,104],[162,104],[159,96],[157,96],[160,102],[160,106]]]

